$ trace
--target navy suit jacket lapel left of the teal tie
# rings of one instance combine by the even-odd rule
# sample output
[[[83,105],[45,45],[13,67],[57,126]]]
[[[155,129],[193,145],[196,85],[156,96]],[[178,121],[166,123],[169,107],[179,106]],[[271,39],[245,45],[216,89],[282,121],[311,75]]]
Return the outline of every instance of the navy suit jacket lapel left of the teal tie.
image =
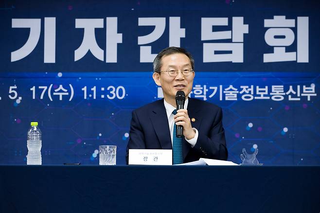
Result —
[[[150,119],[159,139],[161,149],[172,149],[168,118],[163,99],[150,112]]]

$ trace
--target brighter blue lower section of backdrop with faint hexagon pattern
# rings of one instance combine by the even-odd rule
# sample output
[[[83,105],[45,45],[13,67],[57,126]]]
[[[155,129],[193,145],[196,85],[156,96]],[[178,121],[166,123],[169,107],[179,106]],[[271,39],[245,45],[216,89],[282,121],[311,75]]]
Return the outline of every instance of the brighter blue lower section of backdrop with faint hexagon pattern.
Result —
[[[314,84],[319,94],[319,76],[302,78],[277,77],[272,73],[246,75],[246,73],[221,73],[213,77],[210,72],[197,73],[195,85],[207,86],[207,101],[223,108],[223,123],[229,150],[229,160],[240,163],[242,148],[248,152],[259,149],[257,159],[264,164],[320,164],[320,102],[317,96],[301,97],[300,101],[252,100],[244,101],[238,96],[236,101],[219,100],[219,91],[213,97],[210,87],[221,85],[223,89],[232,85],[240,86],[283,85],[288,89],[300,85],[310,87]],[[25,164],[26,133],[31,121],[39,122],[42,130],[43,164],[62,164],[64,162],[81,162],[98,164],[99,155],[93,153],[99,145],[117,145],[117,164],[125,163],[125,147],[128,142],[131,111],[139,106],[158,100],[158,87],[149,72],[142,77],[122,78],[88,77],[89,73],[79,77],[79,73],[64,73],[59,78],[39,73],[38,78],[6,77],[0,78],[0,164]],[[285,76],[286,74],[282,74]],[[216,73],[215,75],[216,76]],[[53,101],[39,86],[58,88],[61,84],[68,89],[73,86],[74,97],[70,95]],[[17,85],[20,101],[8,98],[8,88]],[[36,98],[33,99],[30,88],[36,86]],[[82,88],[87,86],[87,99]],[[93,90],[96,87],[96,99]],[[112,99],[108,86],[124,87],[122,99]],[[102,89],[104,88],[104,89]],[[123,94],[119,91],[118,96]],[[224,94],[224,93],[223,93]],[[109,95],[108,98],[107,95]],[[192,93],[191,97],[195,94]],[[200,98],[203,99],[203,98]]]

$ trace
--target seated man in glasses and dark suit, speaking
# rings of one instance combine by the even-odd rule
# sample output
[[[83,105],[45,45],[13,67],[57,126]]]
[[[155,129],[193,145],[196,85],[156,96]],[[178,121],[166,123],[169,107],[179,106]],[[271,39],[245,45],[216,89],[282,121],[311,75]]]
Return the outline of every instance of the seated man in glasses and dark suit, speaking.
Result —
[[[157,55],[153,67],[152,77],[162,88],[164,99],[132,112],[126,163],[129,149],[173,147],[173,164],[199,158],[227,160],[221,108],[188,98],[195,77],[192,55],[182,48],[169,47]],[[184,108],[176,111],[175,97],[178,90],[184,91],[186,101]],[[183,126],[182,139],[177,139],[174,134],[175,124]]]

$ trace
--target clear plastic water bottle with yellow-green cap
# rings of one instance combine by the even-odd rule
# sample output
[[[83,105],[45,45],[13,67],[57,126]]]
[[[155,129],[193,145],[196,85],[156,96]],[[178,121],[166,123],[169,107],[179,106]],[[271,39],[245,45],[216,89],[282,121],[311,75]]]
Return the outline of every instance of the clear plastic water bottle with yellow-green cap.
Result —
[[[28,155],[27,165],[41,165],[41,131],[38,127],[38,122],[31,122],[31,127],[28,130]]]

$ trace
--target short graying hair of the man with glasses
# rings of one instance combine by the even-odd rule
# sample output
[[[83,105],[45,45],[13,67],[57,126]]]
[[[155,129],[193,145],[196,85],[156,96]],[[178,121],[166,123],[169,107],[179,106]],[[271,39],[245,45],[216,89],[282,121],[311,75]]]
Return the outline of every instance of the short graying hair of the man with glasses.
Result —
[[[175,54],[175,53],[182,53],[182,54],[187,55],[188,58],[190,59],[190,62],[191,62],[191,69],[195,70],[195,60],[189,52],[187,52],[185,49],[183,49],[181,47],[168,47],[164,50],[161,50],[161,52],[158,53],[158,55],[156,56],[155,60],[153,61],[153,71],[160,73],[160,69],[162,66],[161,58],[164,55],[171,55],[171,54]]]

